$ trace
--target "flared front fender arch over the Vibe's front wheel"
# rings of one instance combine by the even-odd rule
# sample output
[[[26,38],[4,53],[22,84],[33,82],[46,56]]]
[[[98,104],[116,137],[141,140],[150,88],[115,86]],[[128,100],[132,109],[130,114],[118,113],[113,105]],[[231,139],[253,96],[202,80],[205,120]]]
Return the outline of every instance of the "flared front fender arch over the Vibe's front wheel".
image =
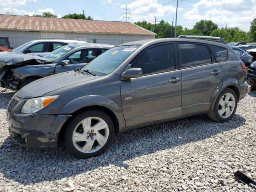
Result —
[[[113,100],[98,95],[89,95],[77,98],[68,104],[66,104],[59,112],[58,115],[61,114],[72,114],[75,111],[82,109],[84,107],[89,106],[103,106],[111,110],[118,119],[119,130],[125,128],[124,115],[122,112],[122,108],[116,104]]]

